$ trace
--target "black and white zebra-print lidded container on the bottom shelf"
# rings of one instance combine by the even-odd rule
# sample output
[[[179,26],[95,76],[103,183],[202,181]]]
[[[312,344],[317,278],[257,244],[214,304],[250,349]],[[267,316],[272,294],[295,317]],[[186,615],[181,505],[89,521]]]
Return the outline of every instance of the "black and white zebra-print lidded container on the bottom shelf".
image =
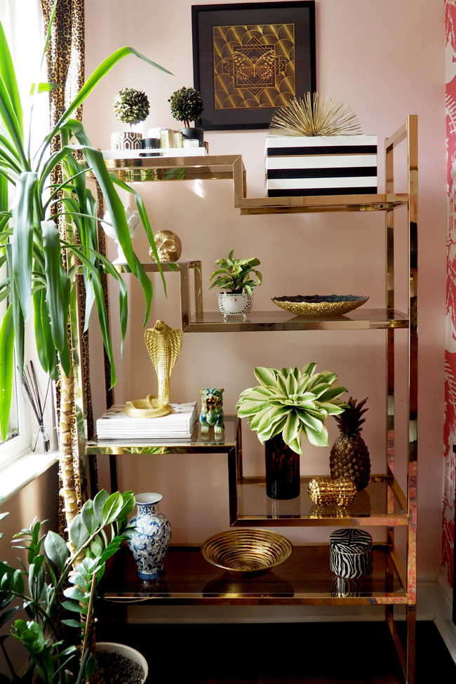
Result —
[[[356,579],[372,572],[372,537],[365,530],[345,528],[330,535],[331,572]]]

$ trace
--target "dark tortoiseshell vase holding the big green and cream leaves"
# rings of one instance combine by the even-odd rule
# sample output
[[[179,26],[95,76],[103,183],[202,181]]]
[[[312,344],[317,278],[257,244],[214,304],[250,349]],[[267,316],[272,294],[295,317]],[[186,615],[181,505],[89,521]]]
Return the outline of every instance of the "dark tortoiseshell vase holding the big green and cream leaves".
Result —
[[[300,495],[300,456],[278,434],[264,442],[266,493],[271,499],[295,499]]]

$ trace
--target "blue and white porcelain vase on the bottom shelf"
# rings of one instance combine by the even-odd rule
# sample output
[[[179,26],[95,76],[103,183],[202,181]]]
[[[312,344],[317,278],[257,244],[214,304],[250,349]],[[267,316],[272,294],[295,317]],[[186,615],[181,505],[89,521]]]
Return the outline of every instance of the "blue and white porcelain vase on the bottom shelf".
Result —
[[[138,513],[131,518],[137,535],[130,537],[128,546],[138,565],[140,579],[158,579],[165,574],[164,561],[171,539],[171,525],[168,518],[159,513],[161,494],[145,492],[135,495]]]

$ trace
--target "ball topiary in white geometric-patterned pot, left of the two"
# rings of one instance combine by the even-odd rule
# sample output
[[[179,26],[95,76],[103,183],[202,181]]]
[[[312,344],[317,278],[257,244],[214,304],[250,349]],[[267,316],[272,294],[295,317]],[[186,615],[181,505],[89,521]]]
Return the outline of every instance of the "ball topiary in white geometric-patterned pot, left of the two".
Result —
[[[133,124],[145,121],[149,114],[149,99],[144,90],[123,88],[114,98],[116,119],[130,124],[130,130],[120,130],[111,134],[111,149],[141,149],[142,134],[134,132]]]

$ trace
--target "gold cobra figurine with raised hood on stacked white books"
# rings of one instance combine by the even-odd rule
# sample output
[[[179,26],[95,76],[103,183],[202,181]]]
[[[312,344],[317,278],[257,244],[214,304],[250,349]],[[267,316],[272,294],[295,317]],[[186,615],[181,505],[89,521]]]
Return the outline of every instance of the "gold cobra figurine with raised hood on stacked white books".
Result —
[[[144,339],[159,380],[158,396],[148,394],[145,399],[127,401],[125,413],[130,418],[158,418],[173,410],[169,405],[170,375],[182,347],[182,330],[157,321],[154,328],[145,330]]]

